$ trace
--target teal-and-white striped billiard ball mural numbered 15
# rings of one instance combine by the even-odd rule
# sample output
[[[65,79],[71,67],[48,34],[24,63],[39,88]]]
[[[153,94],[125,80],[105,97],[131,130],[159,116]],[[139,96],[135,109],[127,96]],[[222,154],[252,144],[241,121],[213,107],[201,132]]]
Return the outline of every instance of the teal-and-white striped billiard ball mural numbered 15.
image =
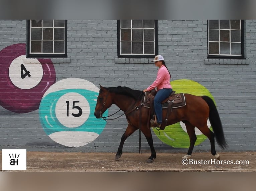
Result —
[[[96,119],[94,110],[99,88],[79,78],[53,84],[43,95],[39,117],[46,134],[55,142],[80,147],[94,141],[106,121]],[[105,112],[108,115],[108,110]]]

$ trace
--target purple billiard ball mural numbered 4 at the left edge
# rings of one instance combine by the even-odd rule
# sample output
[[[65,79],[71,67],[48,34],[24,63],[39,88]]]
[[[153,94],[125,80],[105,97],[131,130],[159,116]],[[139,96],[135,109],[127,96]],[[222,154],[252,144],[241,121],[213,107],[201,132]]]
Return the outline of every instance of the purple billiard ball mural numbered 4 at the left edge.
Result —
[[[37,110],[46,90],[56,81],[50,59],[26,58],[26,44],[0,51],[0,105],[16,113]]]

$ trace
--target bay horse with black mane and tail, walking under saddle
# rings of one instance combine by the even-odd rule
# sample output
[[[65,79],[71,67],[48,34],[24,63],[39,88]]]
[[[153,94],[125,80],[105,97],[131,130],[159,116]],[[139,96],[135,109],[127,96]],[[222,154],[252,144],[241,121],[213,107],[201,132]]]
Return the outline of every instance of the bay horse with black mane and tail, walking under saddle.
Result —
[[[156,151],[153,146],[151,129],[148,128],[148,108],[142,106],[141,104],[143,96],[144,93],[142,91],[133,90],[128,87],[118,86],[106,88],[100,85],[100,91],[94,112],[95,117],[103,118],[103,113],[112,104],[115,104],[122,111],[124,111],[128,121],[128,126],[121,137],[121,142],[115,156],[116,160],[119,159],[123,153],[123,145],[127,137],[129,137],[139,128],[145,135],[151,149],[151,155],[147,159],[147,162],[154,162],[154,159],[156,158]],[[187,154],[182,158],[191,157],[197,139],[195,133],[195,127],[197,127],[204,135],[209,138],[212,155],[220,160],[220,155],[215,150],[215,138],[218,145],[222,149],[227,147],[227,143],[225,141],[222,123],[214,101],[205,95],[197,96],[184,94],[184,96],[186,99],[186,105],[183,107],[173,108],[168,116],[168,122],[166,124],[171,125],[179,121],[185,123],[186,130],[189,135],[190,145]],[[166,109],[163,109],[162,112],[163,116],[166,116]],[[207,126],[208,118],[214,132],[212,132]]]

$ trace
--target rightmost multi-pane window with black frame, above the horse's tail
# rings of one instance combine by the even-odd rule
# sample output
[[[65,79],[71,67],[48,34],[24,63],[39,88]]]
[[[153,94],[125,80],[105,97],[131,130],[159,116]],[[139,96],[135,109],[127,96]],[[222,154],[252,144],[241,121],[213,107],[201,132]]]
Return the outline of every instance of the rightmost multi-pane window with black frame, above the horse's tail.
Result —
[[[243,20],[208,20],[208,57],[244,58]]]

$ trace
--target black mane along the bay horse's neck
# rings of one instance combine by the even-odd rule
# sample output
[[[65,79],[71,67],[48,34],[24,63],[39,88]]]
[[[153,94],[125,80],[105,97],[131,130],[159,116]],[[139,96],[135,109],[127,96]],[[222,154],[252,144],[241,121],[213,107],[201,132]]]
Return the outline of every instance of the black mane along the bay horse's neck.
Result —
[[[134,98],[135,100],[140,100],[143,92],[140,90],[133,90],[131,88],[128,87],[122,87],[122,86],[118,86],[118,87],[109,87],[106,88],[109,92],[111,93],[115,93],[115,94],[121,94],[121,95],[127,95],[129,97]]]

